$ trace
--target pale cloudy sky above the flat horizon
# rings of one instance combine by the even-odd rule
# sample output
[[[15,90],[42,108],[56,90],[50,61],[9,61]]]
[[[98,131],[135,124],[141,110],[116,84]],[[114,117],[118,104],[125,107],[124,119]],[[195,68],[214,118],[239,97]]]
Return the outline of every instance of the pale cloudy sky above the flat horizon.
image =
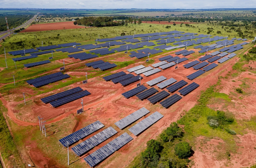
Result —
[[[256,0],[1,0],[0,8],[256,8]]]

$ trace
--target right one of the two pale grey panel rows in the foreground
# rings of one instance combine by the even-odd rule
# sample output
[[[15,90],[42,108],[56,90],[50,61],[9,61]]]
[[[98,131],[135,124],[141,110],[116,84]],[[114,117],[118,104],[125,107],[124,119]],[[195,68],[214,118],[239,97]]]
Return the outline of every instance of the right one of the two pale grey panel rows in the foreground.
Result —
[[[148,127],[150,127],[151,125],[156,123],[162,117],[164,117],[164,116],[156,111],[155,113],[153,113],[152,115],[148,116],[146,119],[140,121],[136,125],[132,126],[128,130],[130,132],[132,132],[135,136],[138,136],[138,134],[140,134],[141,132],[146,130]]]

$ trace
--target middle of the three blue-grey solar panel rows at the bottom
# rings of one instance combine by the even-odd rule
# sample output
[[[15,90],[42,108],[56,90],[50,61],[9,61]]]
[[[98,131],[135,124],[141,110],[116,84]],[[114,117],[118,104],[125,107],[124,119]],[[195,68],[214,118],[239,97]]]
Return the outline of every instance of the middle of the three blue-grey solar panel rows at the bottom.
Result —
[[[87,153],[89,150],[102,143],[104,140],[107,140],[116,133],[117,131],[112,128],[112,126],[110,126],[71,149],[76,154],[76,156],[81,156],[82,154]]]

